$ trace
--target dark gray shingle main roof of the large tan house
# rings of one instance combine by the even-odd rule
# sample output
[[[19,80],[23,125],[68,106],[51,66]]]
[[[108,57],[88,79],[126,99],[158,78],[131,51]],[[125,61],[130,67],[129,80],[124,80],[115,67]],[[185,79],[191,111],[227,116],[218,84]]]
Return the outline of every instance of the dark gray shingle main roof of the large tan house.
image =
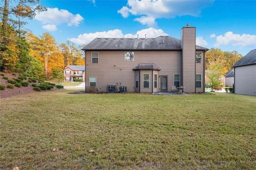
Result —
[[[82,50],[85,51],[177,51],[181,50],[180,39],[170,36],[156,38],[95,38]],[[205,51],[207,48],[196,46],[196,50]]]

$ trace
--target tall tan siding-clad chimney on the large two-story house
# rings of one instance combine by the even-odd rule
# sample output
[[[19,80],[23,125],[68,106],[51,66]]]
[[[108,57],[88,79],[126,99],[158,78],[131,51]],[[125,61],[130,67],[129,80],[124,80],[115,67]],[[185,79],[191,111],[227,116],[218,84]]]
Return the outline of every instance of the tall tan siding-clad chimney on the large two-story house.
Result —
[[[182,82],[185,86],[185,92],[194,93],[195,72],[196,72],[196,27],[186,27],[181,29],[181,47],[182,47]]]

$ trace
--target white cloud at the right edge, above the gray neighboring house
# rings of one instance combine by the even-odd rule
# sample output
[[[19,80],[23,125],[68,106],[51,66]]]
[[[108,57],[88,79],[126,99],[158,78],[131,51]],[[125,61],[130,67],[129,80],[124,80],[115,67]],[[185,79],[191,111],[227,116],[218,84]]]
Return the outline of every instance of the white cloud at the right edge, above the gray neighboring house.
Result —
[[[225,35],[215,36],[216,41],[214,46],[233,45],[233,46],[256,46],[256,35],[250,34],[234,34],[231,31]]]

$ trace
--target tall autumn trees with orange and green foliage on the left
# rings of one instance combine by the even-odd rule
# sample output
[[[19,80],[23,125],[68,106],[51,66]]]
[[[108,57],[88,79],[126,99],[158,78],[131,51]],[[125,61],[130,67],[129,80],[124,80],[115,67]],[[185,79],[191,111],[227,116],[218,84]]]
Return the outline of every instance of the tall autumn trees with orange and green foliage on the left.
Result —
[[[46,8],[39,0],[4,0],[0,6],[0,71],[54,78],[69,65],[84,65],[82,46],[72,42],[58,44],[49,33],[36,36],[22,29],[36,13]]]

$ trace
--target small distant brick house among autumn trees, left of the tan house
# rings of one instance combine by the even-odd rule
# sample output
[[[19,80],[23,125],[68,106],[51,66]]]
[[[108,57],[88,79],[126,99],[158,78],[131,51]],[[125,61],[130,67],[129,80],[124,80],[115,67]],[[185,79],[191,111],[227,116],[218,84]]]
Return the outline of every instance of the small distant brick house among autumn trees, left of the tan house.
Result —
[[[68,82],[75,82],[76,79],[85,79],[85,66],[68,65],[64,69],[65,80]]]

